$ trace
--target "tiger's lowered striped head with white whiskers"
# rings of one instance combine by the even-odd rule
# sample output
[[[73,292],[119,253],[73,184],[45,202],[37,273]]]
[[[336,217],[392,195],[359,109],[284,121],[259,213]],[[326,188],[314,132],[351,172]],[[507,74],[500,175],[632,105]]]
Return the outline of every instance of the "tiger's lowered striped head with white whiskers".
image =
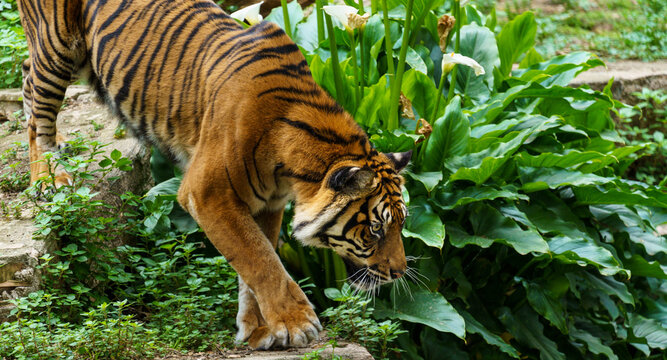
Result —
[[[373,289],[406,271],[401,229],[407,207],[399,172],[411,155],[372,150],[369,158],[341,161],[327,172],[315,197],[296,204],[294,237],[333,249],[357,288]]]

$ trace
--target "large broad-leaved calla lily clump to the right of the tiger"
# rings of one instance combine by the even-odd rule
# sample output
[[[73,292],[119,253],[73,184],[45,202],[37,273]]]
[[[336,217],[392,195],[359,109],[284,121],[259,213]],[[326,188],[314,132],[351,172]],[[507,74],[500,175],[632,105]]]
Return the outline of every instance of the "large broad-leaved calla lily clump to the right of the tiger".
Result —
[[[567,86],[602,61],[583,52],[544,59],[531,13],[497,28],[471,4],[458,12],[456,1],[388,3],[386,23],[373,13],[352,33],[365,47],[333,29],[338,59],[333,42],[314,36],[315,13],[287,9],[313,77],[375,147],[415,150],[404,174],[403,236],[423,284],[381,289],[374,311],[409,331],[398,339],[401,357],[659,357],[667,347],[667,241],[656,228],[667,221],[667,194],[622,177],[643,145],[619,145],[611,112],[624,106],[609,86]],[[403,28],[409,8],[412,23]],[[446,51],[475,59],[485,74],[460,68],[442,76],[436,20],[445,11],[461,26]],[[281,13],[267,19],[282,24]],[[412,54],[402,83],[387,43],[407,43]],[[355,66],[365,76],[357,78]],[[411,102],[401,113],[414,114],[397,124],[388,96],[395,81]],[[431,130],[415,144],[424,137],[415,131],[419,119]],[[284,231],[289,237],[288,225]],[[318,288],[342,280],[323,276],[336,273],[331,258],[289,245],[281,249],[286,262],[299,258]]]

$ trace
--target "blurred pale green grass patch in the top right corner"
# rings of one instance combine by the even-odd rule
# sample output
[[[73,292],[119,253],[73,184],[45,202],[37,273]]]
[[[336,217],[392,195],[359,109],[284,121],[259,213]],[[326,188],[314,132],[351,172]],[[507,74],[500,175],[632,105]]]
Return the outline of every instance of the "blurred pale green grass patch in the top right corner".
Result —
[[[665,0],[554,0],[534,9],[532,1],[502,1],[501,22],[537,10],[537,49],[547,56],[577,50],[612,59],[667,57]],[[491,2],[487,8],[494,6]]]

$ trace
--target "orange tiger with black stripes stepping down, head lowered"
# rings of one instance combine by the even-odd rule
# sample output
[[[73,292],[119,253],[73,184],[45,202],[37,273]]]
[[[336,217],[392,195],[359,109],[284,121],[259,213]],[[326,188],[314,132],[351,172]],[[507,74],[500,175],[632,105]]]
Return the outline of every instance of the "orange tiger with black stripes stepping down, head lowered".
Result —
[[[253,349],[319,337],[313,305],[276,252],[293,237],[329,248],[349,281],[373,289],[407,269],[400,172],[315,83],[276,24],[245,27],[210,0],[18,0],[28,41],[23,97],[31,181],[63,137],[56,116],[83,78],[139,139],[184,175],[178,203],[238,274],[236,339]],[[71,183],[59,173],[55,186]]]

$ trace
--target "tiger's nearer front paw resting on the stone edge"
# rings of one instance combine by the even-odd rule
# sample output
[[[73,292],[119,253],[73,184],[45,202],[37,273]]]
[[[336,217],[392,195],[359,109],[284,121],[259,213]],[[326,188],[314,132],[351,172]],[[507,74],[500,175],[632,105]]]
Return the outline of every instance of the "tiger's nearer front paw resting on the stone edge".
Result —
[[[284,311],[267,316],[271,325],[259,326],[252,331],[248,345],[253,349],[266,350],[271,347],[303,347],[319,337],[322,325],[308,305],[300,311]]]

